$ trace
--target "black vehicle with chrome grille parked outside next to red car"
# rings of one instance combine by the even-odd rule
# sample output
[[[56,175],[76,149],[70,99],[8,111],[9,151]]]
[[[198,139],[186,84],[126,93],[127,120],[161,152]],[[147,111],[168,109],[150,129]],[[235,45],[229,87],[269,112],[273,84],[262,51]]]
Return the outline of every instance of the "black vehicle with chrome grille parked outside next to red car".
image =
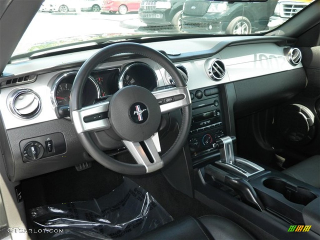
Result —
[[[180,15],[186,0],[142,0],[139,18],[148,26],[173,25],[180,28]]]

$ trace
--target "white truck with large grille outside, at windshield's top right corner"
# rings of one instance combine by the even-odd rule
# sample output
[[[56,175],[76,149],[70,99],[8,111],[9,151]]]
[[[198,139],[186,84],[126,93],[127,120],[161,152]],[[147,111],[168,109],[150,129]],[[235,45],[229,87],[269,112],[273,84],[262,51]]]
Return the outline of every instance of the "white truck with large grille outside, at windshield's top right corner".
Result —
[[[313,0],[279,0],[273,15],[270,17],[269,30],[283,24],[312,2]]]

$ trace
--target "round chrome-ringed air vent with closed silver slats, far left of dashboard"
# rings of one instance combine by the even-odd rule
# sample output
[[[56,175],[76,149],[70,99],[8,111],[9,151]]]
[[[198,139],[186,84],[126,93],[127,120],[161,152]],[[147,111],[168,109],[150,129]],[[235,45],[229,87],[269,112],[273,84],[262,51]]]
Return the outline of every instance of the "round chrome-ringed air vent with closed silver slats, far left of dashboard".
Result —
[[[15,116],[30,119],[40,113],[41,100],[38,94],[30,89],[18,89],[12,94],[9,107]]]

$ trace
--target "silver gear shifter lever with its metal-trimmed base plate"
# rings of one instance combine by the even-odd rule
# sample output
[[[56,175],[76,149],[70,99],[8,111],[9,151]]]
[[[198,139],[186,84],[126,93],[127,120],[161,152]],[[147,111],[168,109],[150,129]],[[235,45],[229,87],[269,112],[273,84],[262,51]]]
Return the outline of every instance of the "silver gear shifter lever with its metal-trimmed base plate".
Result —
[[[240,157],[235,157],[233,152],[234,142],[236,142],[235,136],[226,136],[218,139],[217,142],[212,145],[214,149],[220,149],[221,160],[217,161],[216,164],[232,173],[244,176],[246,178],[258,172],[264,171],[264,168],[257,164]]]

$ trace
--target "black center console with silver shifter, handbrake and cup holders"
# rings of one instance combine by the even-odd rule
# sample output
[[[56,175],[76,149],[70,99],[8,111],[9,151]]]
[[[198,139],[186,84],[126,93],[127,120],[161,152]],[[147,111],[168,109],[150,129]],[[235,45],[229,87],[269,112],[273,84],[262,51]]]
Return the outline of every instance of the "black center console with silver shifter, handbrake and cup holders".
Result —
[[[195,170],[195,196],[209,206],[217,202],[227,206],[266,230],[268,225],[278,229],[274,236],[279,238],[318,239],[320,189],[234,156],[235,141],[225,136],[212,144],[213,151],[219,149],[220,160]],[[304,235],[288,236],[292,226]]]

